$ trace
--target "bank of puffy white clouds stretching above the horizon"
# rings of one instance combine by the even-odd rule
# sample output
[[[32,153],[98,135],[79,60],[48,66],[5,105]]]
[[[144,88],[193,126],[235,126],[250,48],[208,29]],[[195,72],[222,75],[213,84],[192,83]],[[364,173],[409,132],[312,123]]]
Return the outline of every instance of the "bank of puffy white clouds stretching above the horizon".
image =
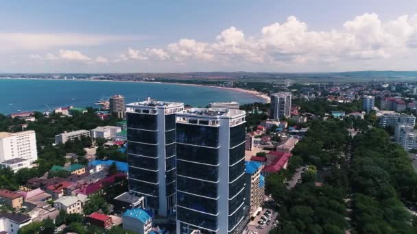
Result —
[[[285,22],[265,25],[254,35],[246,35],[241,29],[232,26],[213,36],[213,39],[213,42],[203,42],[183,38],[162,47],[128,48],[113,60],[100,56],[92,59],[76,50],[60,50],[58,54],[48,53],[41,57],[31,55],[31,58],[97,64],[134,60],[152,62],[156,67],[160,65],[159,61],[164,61],[164,64],[180,66],[210,65],[219,70],[359,70],[364,66],[373,69],[407,69],[414,68],[417,62],[417,14],[383,22],[377,14],[366,13],[353,17],[337,29],[327,31],[310,29],[307,23],[296,16],[289,16]],[[105,41],[108,40],[112,39]],[[55,40],[51,43],[59,44]],[[102,40],[91,37],[82,43],[99,44]],[[29,42],[26,44],[35,47]]]

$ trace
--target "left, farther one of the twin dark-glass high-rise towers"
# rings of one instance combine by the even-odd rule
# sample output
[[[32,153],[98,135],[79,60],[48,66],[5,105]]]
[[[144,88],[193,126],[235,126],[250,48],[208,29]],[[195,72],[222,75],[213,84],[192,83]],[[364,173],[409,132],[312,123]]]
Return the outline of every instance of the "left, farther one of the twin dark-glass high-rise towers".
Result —
[[[184,103],[151,99],[126,105],[129,190],[159,216],[175,211],[175,113],[182,109]]]

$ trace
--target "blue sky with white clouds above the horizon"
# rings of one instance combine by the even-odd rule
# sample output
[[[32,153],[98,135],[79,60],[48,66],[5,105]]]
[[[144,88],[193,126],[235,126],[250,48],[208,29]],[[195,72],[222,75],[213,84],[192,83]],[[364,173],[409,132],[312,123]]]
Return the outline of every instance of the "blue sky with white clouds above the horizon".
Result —
[[[413,0],[0,0],[0,73],[298,73],[416,64]]]

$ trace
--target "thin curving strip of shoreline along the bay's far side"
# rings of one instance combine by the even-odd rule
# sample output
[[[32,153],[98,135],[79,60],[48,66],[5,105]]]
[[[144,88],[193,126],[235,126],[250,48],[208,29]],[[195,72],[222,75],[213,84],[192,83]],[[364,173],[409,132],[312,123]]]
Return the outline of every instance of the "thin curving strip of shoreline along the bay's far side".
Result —
[[[200,87],[209,87],[209,88],[219,88],[224,90],[231,90],[236,92],[243,92],[246,94],[250,94],[252,96],[257,96],[257,98],[262,99],[263,103],[270,103],[270,97],[267,94],[263,94],[261,92],[255,90],[245,90],[243,88],[228,88],[228,87],[219,87],[219,86],[204,86],[195,83],[176,83],[176,82],[163,82],[163,81],[116,81],[116,80],[99,80],[99,79],[47,79],[47,78],[5,78],[1,77],[0,79],[38,79],[38,80],[53,80],[53,81],[102,81],[102,82],[128,82],[128,83],[163,83],[163,84],[174,84],[180,86],[200,86]]]

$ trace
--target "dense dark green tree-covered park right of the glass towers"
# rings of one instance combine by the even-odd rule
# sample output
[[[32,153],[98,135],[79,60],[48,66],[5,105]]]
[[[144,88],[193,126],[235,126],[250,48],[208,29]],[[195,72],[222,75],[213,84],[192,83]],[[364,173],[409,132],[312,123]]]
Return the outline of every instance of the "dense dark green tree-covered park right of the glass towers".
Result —
[[[267,177],[265,189],[278,203],[271,233],[417,233],[417,219],[403,202],[416,202],[417,174],[407,153],[369,120],[312,121],[294,148],[289,168]],[[363,129],[351,140],[347,127]],[[350,155],[351,144],[351,160]],[[294,168],[313,165],[324,173],[287,190]],[[402,199],[402,200],[401,200]]]

